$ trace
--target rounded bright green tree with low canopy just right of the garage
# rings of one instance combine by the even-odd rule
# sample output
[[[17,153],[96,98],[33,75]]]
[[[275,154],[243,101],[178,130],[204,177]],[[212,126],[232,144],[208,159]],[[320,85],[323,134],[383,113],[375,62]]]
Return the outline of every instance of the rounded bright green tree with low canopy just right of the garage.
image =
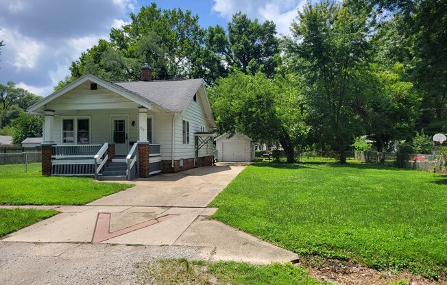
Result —
[[[287,162],[295,162],[294,149],[304,143],[309,128],[304,124],[299,80],[294,75],[269,79],[258,72],[235,71],[217,79],[210,98],[221,132],[241,132],[255,141],[279,142]]]

